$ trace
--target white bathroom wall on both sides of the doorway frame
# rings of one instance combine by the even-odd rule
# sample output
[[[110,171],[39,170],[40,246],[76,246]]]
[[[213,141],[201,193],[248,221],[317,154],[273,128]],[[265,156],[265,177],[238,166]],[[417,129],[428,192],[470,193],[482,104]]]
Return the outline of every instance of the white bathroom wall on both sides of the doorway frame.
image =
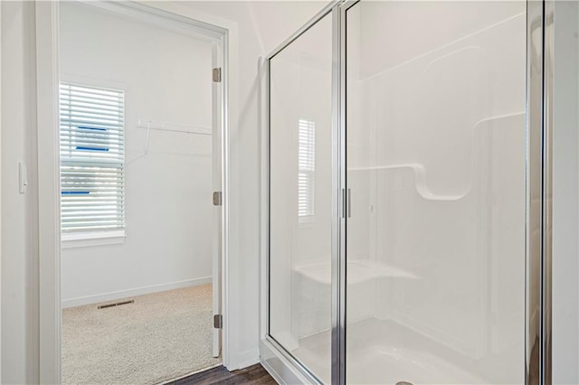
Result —
[[[154,3],[151,3],[155,5]],[[180,12],[214,15],[238,23],[239,80],[233,85],[239,101],[239,116],[232,126],[233,218],[242,219],[234,228],[236,240],[232,266],[239,286],[232,287],[241,315],[232,324],[232,369],[259,359],[259,239],[260,155],[258,124],[258,58],[285,40],[316,14],[324,2],[190,2],[178,5]],[[38,339],[27,333],[35,323],[37,305],[33,295],[37,275],[28,272],[37,260],[27,247],[33,224],[26,225],[26,202],[15,193],[14,167],[32,148],[26,133],[32,125],[33,99],[28,95],[33,80],[34,9],[30,2],[2,2],[2,382],[33,383],[38,379]],[[160,5],[159,5],[160,6]],[[176,5],[177,6],[177,5]],[[189,12],[190,11],[190,12]],[[8,98],[9,96],[9,98]],[[239,135],[237,135],[239,134]],[[5,210],[9,208],[9,210]],[[129,234],[130,235],[130,234]],[[30,311],[27,310],[30,306]]]

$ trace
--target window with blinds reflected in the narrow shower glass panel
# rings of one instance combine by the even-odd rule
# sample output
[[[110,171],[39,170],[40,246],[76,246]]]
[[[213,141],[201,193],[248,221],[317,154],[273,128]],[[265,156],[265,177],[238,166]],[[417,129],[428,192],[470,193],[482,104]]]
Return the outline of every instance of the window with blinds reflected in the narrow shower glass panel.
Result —
[[[298,217],[306,223],[314,217],[316,122],[299,119],[298,127]]]

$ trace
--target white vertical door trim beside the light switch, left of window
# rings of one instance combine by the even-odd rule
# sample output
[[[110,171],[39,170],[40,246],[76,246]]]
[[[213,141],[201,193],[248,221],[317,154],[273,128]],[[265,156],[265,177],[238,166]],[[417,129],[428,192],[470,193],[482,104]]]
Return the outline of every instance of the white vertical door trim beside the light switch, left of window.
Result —
[[[31,165],[38,185],[31,193],[38,197],[39,380],[61,383],[58,3],[37,1],[35,7],[37,164]]]

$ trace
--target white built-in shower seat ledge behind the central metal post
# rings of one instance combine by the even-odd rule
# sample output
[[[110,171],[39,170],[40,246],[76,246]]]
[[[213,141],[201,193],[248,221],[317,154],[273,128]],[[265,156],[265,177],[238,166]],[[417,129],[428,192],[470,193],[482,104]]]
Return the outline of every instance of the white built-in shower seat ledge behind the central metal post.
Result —
[[[358,284],[375,278],[416,279],[415,275],[383,262],[369,259],[355,259],[346,263],[347,283]],[[331,285],[331,265],[329,262],[315,262],[296,266],[294,270],[303,277]]]

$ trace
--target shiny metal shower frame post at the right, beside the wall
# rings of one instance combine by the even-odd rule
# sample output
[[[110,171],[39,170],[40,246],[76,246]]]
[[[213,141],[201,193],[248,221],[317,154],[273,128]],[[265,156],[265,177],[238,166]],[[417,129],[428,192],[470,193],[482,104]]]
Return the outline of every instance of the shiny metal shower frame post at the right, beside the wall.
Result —
[[[525,382],[546,385],[552,367],[554,1],[527,0]]]

